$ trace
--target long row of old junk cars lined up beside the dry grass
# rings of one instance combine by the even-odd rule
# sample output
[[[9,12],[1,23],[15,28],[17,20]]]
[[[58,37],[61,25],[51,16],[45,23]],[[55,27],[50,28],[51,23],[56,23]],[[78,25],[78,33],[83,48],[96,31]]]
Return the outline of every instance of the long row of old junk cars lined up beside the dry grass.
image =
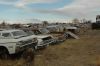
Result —
[[[9,55],[26,51],[28,48],[39,50],[49,45],[64,42],[70,36],[79,39],[74,33],[68,30],[77,30],[71,27],[57,32],[53,28],[20,28],[20,29],[0,29],[0,58],[7,58]],[[51,32],[50,32],[51,31]]]

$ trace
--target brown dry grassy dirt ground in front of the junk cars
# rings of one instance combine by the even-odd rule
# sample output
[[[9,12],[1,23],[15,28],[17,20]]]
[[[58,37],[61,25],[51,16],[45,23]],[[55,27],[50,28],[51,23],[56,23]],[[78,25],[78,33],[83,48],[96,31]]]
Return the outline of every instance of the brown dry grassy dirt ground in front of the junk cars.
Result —
[[[100,30],[79,37],[38,50],[31,66],[100,66]],[[0,60],[0,66],[25,66],[25,63],[22,58]]]

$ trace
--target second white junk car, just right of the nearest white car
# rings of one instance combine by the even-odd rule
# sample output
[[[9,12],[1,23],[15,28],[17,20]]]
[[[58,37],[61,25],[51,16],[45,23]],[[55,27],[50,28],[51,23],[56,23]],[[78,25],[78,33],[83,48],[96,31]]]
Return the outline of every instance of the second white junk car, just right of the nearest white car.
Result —
[[[29,29],[23,29],[27,34],[29,34],[31,37],[36,37],[38,42],[37,45],[35,46],[35,49],[40,49],[47,47],[49,44],[54,43],[55,40],[51,35],[42,35],[41,32],[38,30],[29,30]]]

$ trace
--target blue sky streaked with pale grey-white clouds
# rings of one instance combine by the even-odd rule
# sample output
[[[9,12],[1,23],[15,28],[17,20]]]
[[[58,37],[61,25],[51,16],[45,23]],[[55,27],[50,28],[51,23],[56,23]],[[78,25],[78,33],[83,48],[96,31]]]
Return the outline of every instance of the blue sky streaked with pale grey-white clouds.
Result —
[[[74,18],[95,21],[100,0],[0,0],[0,22],[68,22]]]

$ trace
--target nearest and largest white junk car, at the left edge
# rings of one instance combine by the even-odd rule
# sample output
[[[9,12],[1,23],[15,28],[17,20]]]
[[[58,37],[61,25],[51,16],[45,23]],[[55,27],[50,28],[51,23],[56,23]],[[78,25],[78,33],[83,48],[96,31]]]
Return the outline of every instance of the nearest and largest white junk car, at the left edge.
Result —
[[[0,31],[0,56],[15,54],[29,47],[35,47],[34,38],[22,30]]]

